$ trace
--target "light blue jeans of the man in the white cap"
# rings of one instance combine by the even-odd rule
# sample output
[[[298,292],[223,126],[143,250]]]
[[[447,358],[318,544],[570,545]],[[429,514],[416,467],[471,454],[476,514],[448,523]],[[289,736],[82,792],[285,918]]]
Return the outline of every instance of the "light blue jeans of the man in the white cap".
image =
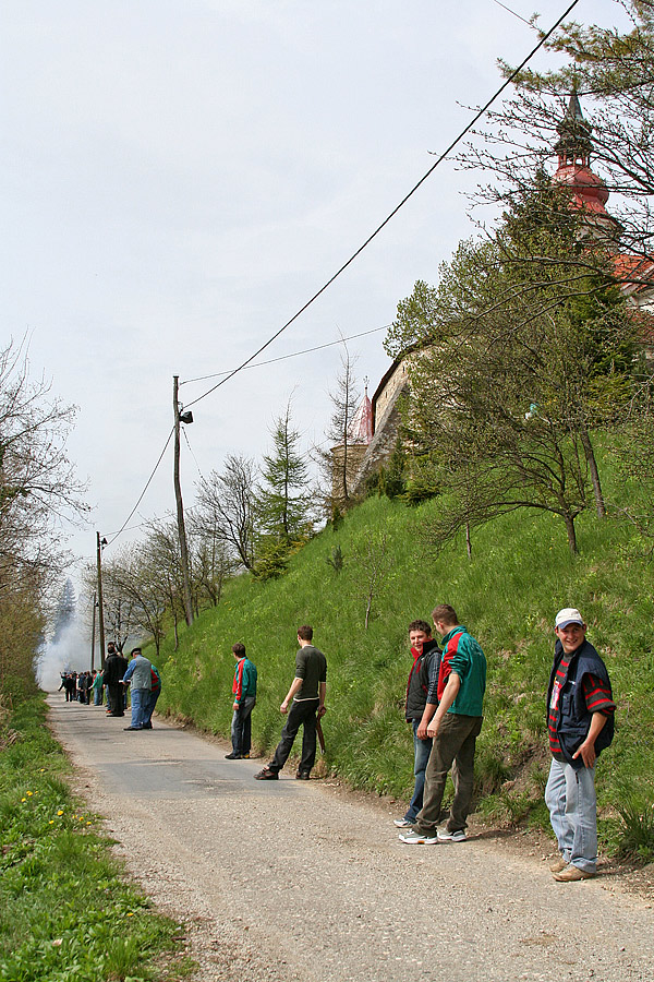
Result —
[[[559,851],[567,863],[594,873],[597,863],[595,768],[552,762],[545,804]]]

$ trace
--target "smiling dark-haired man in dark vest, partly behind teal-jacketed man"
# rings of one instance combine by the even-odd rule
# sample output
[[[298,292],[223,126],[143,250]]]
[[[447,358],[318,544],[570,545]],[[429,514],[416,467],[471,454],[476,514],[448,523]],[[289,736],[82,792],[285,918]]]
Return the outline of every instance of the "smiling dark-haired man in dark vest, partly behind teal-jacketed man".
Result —
[[[397,828],[411,828],[417,813],[422,809],[425,770],[432,752],[432,738],[427,736],[427,723],[438,707],[438,669],[440,668],[440,648],[432,637],[432,627],[426,621],[412,621],[409,624],[409,644],[413,664],[407,683],[407,700],[404,718],[413,728],[413,775],[415,778],[413,795],[402,818],[395,818]],[[425,709],[428,705],[428,709]],[[419,729],[422,724],[422,735]]]

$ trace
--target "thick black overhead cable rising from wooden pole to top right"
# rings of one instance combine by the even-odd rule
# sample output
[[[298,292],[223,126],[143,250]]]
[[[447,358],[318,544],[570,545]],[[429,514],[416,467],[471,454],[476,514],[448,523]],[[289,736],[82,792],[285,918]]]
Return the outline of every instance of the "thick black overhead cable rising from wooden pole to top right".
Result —
[[[477,110],[477,112],[474,115],[474,117],[471,119],[471,121],[468,123],[468,125],[464,127],[463,130],[461,130],[461,132],[459,133],[459,135],[458,135],[458,136],[450,143],[450,145],[449,145],[449,146],[448,146],[448,147],[447,147],[447,148],[438,156],[438,158],[436,159],[436,161],[435,161],[435,163],[432,165],[432,167],[429,167],[429,169],[422,176],[422,178],[417,181],[417,183],[413,185],[413,188],[408,192],[408,194],[404,195],[404,197],[400,201],[400,203],[399,203],[398,205],[396,205],[396,207],[392,209],[392,212],[391,212],[389,215],[386,216],[386,218],[384,219],[384,221],[382,221],[380,225],[378,225],[377,228],[376,228],[376,229],[367,237],[367,239],[363,242],[363,244],[360,246],[359,249],[358,249],[355,252],[352,253],[352,255],[350,256],[350,259],[347,260],[347,261],[342,264],[342,266],[340,266],[340,267],[336,271],[336,273],[335,273],[332,276],[329,277],[329,279],[327,280],[327,283],[325,283],[325,284],[320,287],[319,290],[316,290],[316,292],[313,295],[313,297],[311,297],[311,298],[306,301],[306,303],[304,303],[303,307],[301,307],[300,310],[296,311],[296,312],[293,314],[293,316],[290,318],[290,319],[286,322],[286,324],[283,324],[278,331],[276,331],[275,334],[272,334],[272,335],[268,338],[268,340],[265,342],[265,344],[263,344],[263,345],[261,346],[261,348],[257,348],[257,350],[256,350],[253,355],[251,355],[250,358],[246,358],[245,361],[243,361],[238,368],[233,369],[233,370],[232,370],[228,375],[226,375],[226,378],[222,379],[220,382],[217,382],[216,385],[211,386],[211,388],[207,390],[207,392],[203,393],[201,396],[198,396],[198,397],[197,397],[196,399],[194,399],[192,403],[189,403],[189,406],[186,406],[186,408],[190,408],[191,406],[195,406],[196,403],[199,403],[202,399],[205,399],[205,398],[206,398],[208,395],[210,395],[213,392],[216,392],[217,388],[220,388],[221,385],[225,385],[226,382],[229,382],[230,379],[233,379],[233,376],[237,375],[239,372],[243,371],[243,369],[246,368],[246,366],[249,366],[251,361],[254,361],[254,359],[257,357],[257,355],[261,355],[262,351],[265,351],[266,348],[267,348],[269,345],[271,345],[272,342],[276,340],[276,339],[279,337],[279,335],[282,334],[282,333],[287,330],[287,327],[290,327],[291,324],[292,324],[294,321],[296,321],[298,318],[299,318],[301,314],[303,314],[304,311],[307,310],[307,309],[312,306],[312,303],[314,303],[314,302],[318,299],[318,297],[320,297],[320,296],[325,292],[325,290],[327,290],[328,287],[330,287],[331,284],[332,284],[336,279],[338,279],[338,277],[339,277],[342,273],[344,273],[344,271],[348,268],[348,266],[351,266],[351,265],[352,265],[352,263],[354,262],[354,260],[355,260],[359,255],[361,255],[361,253],[363,252],[363,250],[364,250],[367,246],[370,246],[370,243],[373,241],[373,239],[375,239],[375,238],[379,235],[379,232],[382,231],[382,229],[386,228],[386,226],[387,226],[388,223],[391,220],[391,218],[393,218],[393,217],[397,215],[397,213],[400,211],[400,208],[402,208],[402,207],[407,204],[407,202],[409,201],[409,199],[412,197],[412,196],[415,194],[415,192],[419,190],[419,188],[421,188],[421,187],[424,184],[424,182],[427,180],[427,178],[429,178],[429,177],[434,173],[434,171],[436,170],[436,168],[445,160],[445,158],[447,157],[447,155],[450,154],[450,153],[453,151],[453,148],[457,146],[457,144],[460,143],[461,140],[463,140],[464,136],[468,135],[468,133],[469,133],[469,132],[472,130],[472,128],[479,122],[479,120],[482,118],[482,116],[484,116],[484,113],[491,108],[491,106],[493,105],[493,103],[495,103],[495,100],[499,98],[499,96],[502,94],[502,92],[505,91],[505,88],[507,88],[507,87],[512,83],[513,79],[516,79],[517,75],[522,71],[522,69],[524,68],[524,65],[525,65],[529,61],[531,61],[531,59],[534,57],[534,55],[536,53],[536,51],[538,51],[538,50],[543,47],[543,45],[545,44],[545,41],[550,37],[552,34],[554,34],[554,32],[556,31],[556,28],[557,28],[557,27],[559,26],[559,24],[561,24],[561,22],[568,16],[568,14],[569,14],[572,10],[574,10],[574,8],[577,7],[578,3],[579,3],[579,0],[572,0],[572,3],[570,3],[570,5],[567,8],[567,10],[564,11],[564,13],[558,17],[558,20],[556,21],[556,23],[553,24],[553,26],[549,28],[549,31],[547,31],[545,34],[541,35],[537,45],[535,45],[535,47],[532,48],[532,50],[531,50],[530,53],[526,56],[526,58],[524,58],[524,59],[520,62],[520,64],[518,65],[518,68],[514,69],[514,70],[511,72],[511,74],[509,75],[509,77],[506,79],[505,82],[502,82],[502,84],[499,86],[498,89],[496,89],[496,92],[495,92],[494,95],[488,99],[488,101],[485,103],[485,104],[482,106],[482,108]]]

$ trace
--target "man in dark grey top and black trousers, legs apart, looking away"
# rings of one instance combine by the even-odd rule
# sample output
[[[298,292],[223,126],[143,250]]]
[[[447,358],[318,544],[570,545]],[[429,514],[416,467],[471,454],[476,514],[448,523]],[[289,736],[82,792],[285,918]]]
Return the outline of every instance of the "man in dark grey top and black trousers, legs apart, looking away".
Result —
[[[325,694],[327,692],[327,659],[323,652],[312,645],[313,627],[304,624],[298,628],[300,650],[295,656],[295,678],[287,696],[279,707],[280,712],[289,718],[281,731],[275,756],[263,770],[255,774],[257,781],[276,781],[279,771],[288,761],[293,741],[300,727],[302,734],[302,757],[295,775],[299,781],[307,781],[316,759],[316,723],[327,711]],[[289,712],[289,704],[291,709]]]

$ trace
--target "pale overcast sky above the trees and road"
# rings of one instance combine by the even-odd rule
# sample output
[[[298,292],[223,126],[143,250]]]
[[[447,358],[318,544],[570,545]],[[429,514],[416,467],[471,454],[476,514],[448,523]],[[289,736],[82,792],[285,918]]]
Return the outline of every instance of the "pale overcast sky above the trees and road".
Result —
[[[78,406],[70,455],[85,560],[135,504],[191,403],[336,272],[534,46],[533,0],[4,0],[0,14],[3,339]],[[549,26],[567,0],[538,4]],[[614,0],[576,17],[625,26]],[[543,63],[543,58],[540,59]],[[536,62],[538,63],[538,62]],[[474,232],[440,167],[262,360],[389,324]],[[352,342],[371,394],[384,332]],[[293,395],[323,440],[338,348],[247,369],[193,408],[184,496],[227,454],[261,458]],[[174,507],[172,454],[130,527]],[[129,541],[125,532],[112,547]],[[111,550],[109,550],[111,552]]]

